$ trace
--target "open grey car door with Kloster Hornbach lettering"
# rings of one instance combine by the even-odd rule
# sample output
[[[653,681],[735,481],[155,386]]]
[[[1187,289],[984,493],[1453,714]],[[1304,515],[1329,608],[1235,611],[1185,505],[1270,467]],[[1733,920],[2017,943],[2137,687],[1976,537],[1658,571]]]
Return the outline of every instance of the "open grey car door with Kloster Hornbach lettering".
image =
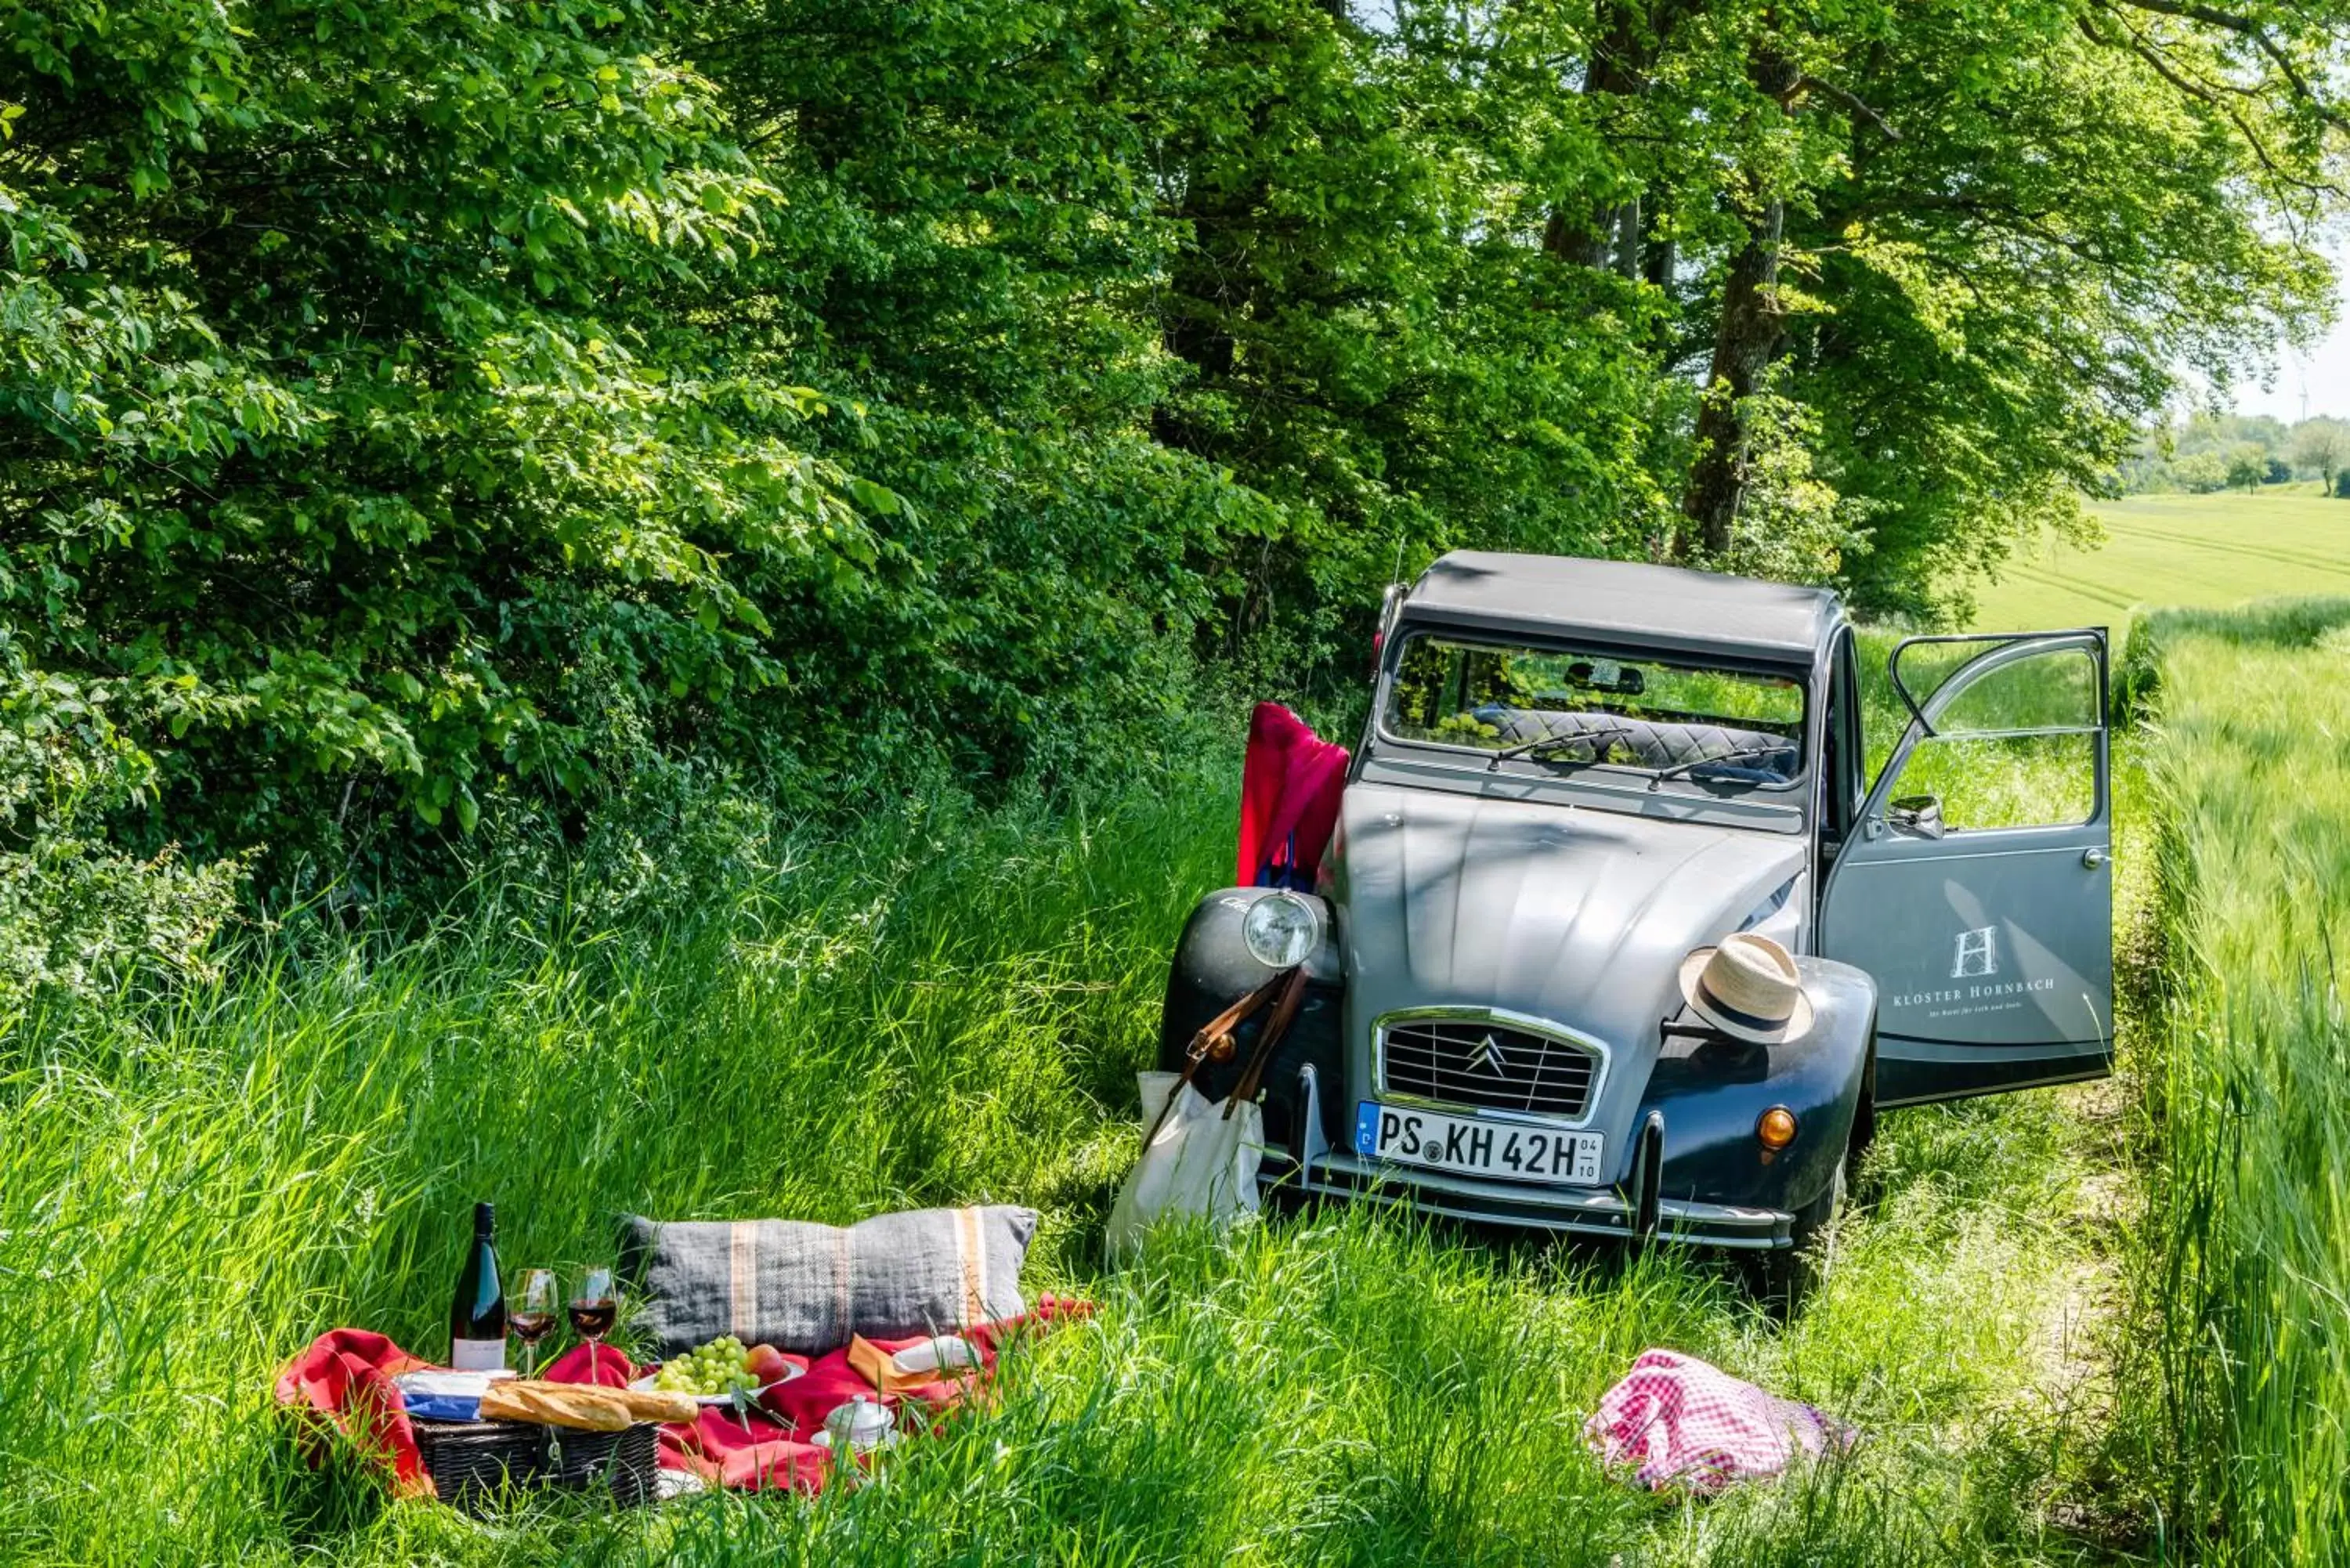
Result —
[[[1911,637],[1889,672],[1908,729],[1819,912],[1819,950],[1878,983],[1878,1105],[2103,1077],[2106,632]]]

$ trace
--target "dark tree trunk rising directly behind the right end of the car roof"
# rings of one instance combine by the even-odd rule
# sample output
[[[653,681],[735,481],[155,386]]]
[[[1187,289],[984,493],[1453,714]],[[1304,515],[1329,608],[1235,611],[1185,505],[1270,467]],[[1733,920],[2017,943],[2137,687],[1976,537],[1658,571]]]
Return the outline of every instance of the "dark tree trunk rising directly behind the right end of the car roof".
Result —
[[[1777,56],[1753,63],[1755,89],[1786,99],[1795,68]],[[1751,216],[1746,244],[1723,282],[1723,315],[1713,331],[1713,369],[1697,411],[1697,458],[1680,510],[1690,527],[1673,541],[1673,559],[1718,559],[1730,550],[1730,529],[1746,501],[1746,418],[1741,402],[1762,386],[1762,374],[1786,346],[1779,310],[1779,240],[1786,205],[1748,179]]]

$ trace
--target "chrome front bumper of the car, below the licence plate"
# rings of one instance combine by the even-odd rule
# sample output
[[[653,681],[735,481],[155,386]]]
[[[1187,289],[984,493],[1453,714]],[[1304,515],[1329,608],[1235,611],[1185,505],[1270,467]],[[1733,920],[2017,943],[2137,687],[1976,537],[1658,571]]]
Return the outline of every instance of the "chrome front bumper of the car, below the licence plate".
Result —
[[[1264,1150],[1257,1180],[1264,1187],[1314,1197],[1368,1199],[1419,1213],[1441,1213],[1485,1225],[1572,1232],[1586,1237],[1661,1239],[1690,1246],[1777,1251],[1793,1246],[1795,1215],[1779,1208],[1697,1204],[1657,1194],[1664,1124],[1652,1112],[1643,1128],[1647,1147],[1624,1187],[1537,1187],[1528,1182],[1480,1182],[1438,1171],[1415,1171],[1332,1150],[1321,1133],[1321,1086],[1314,1067],[1297,1074],[1302,1150]]]

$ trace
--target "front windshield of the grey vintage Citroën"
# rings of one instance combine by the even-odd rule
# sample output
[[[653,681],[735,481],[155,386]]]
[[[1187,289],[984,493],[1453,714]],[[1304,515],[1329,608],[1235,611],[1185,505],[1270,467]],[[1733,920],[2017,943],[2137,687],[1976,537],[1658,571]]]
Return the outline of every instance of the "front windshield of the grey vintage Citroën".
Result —
[[[1396,741],[1492,764],[1607,762],[1701,783],[1802,771],[1802,682],[1687,658],[1412,632],[1382,715]]]

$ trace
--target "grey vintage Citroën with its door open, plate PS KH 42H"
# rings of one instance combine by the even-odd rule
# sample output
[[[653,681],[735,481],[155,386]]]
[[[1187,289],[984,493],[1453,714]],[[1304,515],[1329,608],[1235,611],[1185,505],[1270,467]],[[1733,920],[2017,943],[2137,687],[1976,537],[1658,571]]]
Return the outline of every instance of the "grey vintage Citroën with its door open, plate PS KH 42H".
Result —
[[[2108,1070],[2103,630],[1899,644],[1873,780],[1824,590],[1455,552],[1379,646],[1311,891],[1208,893],[1168,980],[1177,1067],[1307,964],[1262,1180],[1786,1269],[1880,1110]],[[1798,954],[1767,1046],[1685,1004],[1741,931]]]

